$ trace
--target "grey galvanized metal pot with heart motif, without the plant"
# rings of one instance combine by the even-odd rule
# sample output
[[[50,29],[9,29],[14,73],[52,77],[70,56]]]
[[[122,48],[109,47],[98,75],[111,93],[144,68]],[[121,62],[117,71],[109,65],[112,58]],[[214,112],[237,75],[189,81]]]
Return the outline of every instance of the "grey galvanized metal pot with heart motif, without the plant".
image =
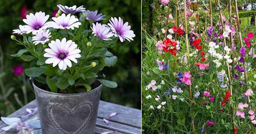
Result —
[[[89,92],[58,94],[32,84],[43,134],[95,134],[102,85]]]

